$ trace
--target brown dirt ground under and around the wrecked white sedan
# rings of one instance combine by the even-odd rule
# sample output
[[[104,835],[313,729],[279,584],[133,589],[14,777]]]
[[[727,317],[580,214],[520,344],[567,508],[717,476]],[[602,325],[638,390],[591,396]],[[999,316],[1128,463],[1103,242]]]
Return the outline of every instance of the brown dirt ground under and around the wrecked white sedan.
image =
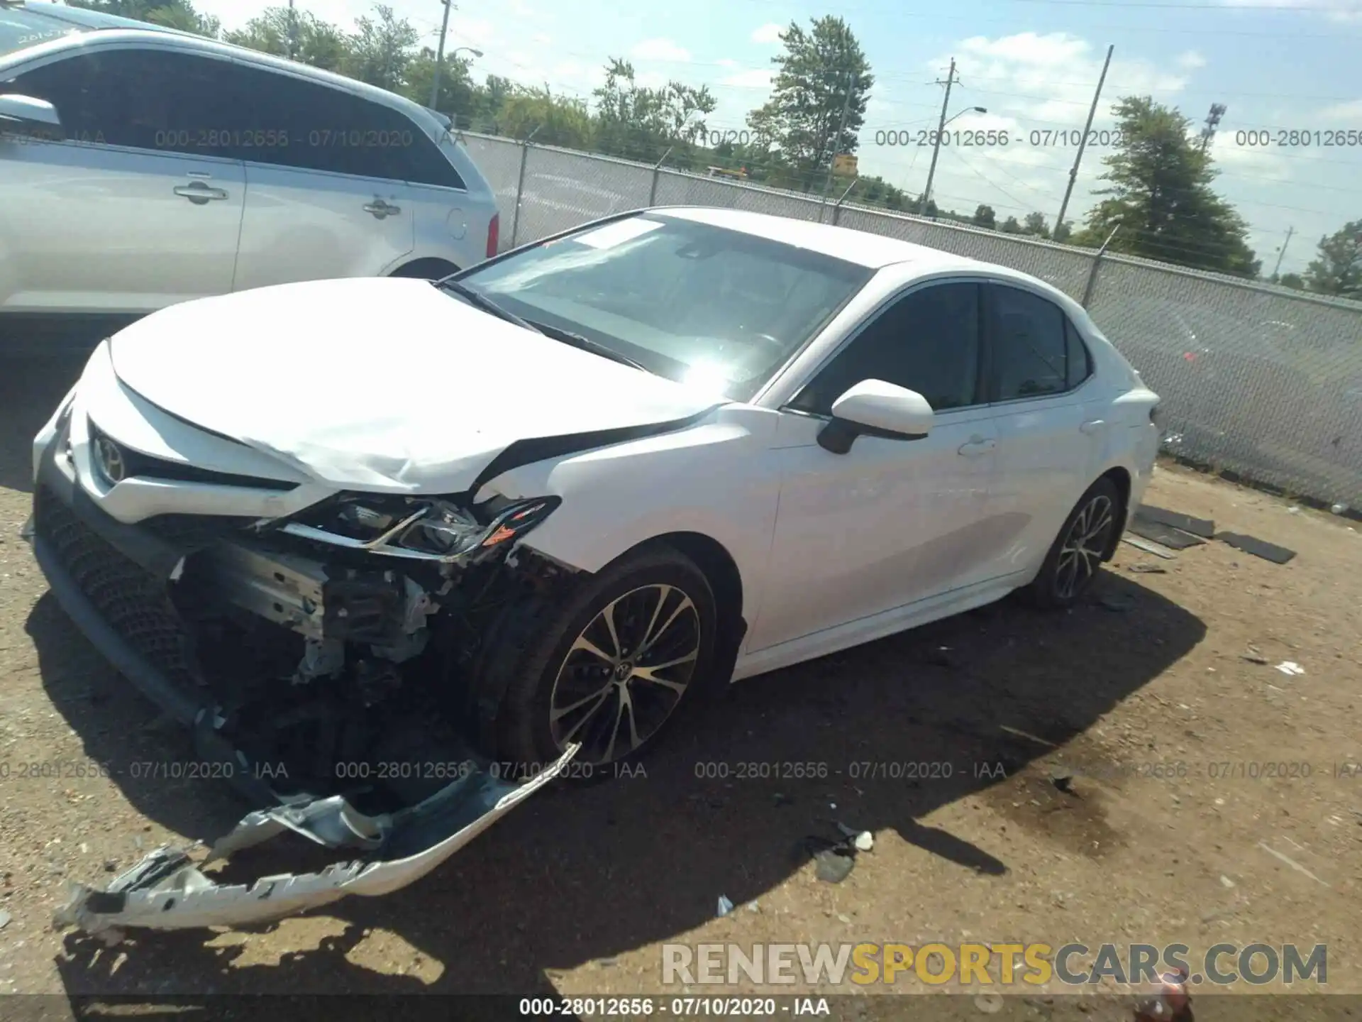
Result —
[[[187,740],[84,643],[18,538],[30,437],[75,372],[0,365],[0,1017],[5,993],[676,993],[666,942],[1327,943],[1325,989],[1362,993],[1362,771],[1346,769],[1362,763],[1362,533],[1177,466],[1150,503],[1297,559],[1122,544],[1072,612],[1005,601],[744,681],[646,775],[537,796],[391,897],[114,948],[53,932],[69,880],[211,842],[252,808],[221,782],[131,775],[187,759]],[[109,775],[20,777],[89,760]],[[910,779],[906,762],[951,775]],[[786,763],[825,777],[761,777]],[[797,849],[836,822],[874,848],[832,884]],[[737,910],[716,918],[720,895]]]

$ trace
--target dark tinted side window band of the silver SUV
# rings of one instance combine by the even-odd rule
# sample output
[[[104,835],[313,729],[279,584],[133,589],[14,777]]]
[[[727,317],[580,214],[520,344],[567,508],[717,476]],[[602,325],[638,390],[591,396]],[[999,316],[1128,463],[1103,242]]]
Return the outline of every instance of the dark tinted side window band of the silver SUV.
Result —
[[[78,142],[464,187],[400,112],[226,59],[97,50],[22,74],[4,91],[52,102]]]

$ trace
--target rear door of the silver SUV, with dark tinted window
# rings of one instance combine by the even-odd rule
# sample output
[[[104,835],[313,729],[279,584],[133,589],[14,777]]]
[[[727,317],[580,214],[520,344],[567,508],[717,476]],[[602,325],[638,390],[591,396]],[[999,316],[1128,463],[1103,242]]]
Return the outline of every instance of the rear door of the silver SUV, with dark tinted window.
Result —
[[[248,191],[233,289],[377,277],[403,262],[414,245],[414,196],[399,170],[410,121],[301,75],[247,60],[237,72],[260,134],[241,151]]]

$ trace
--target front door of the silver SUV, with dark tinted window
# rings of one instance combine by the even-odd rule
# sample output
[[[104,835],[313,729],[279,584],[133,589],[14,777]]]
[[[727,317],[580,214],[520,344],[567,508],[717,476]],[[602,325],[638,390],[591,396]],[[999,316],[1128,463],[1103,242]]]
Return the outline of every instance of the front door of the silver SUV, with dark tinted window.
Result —
[[[229,67],[97,48],[0,83],[64,129],[0,139],[0,312],[142,315],[232,290],[245,172],[210,144],[242,116],[214,87]]]

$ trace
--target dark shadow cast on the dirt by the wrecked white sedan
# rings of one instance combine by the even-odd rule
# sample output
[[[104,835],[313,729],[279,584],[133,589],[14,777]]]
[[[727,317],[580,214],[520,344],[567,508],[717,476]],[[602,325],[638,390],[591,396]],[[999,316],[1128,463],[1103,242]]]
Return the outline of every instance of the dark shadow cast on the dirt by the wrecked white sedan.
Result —
[[[50,698],[91,758],[184,755],[187,739],[146,726],[148,706],[101,666],[50,595],[29,628]],[[552,992],[552,970],[609,969],[614,955],[685,939],[714,917],[720,894],[738,906],[763,898],[806,868],[801,842],[836,838],[838,822],[881,839],[896,833],[962,875],[1004,876],[1015,865],[1005,831],[979,845],[919,822],[978,794],[1008,830],[1039,827],[1066,854],[1102,856],[1122,837],[1100,800],[1060,792],[1035,760],[1057,749],[1100,755],[1084,732],[1204,634],[1200,619],[1115,571],[1069,612],[1007,600],[734,685],[680,722],[637,775],[550,788],[413,887],[320,910],[345,932],[313,950],[255,965],[237,961],[242,946],[202,931],[140,933],[113,951],[67,935],[57,965],[72,997],[524,996]],[[251,808],[212,782],[174,786],[127,773],[114,781],[150,820],[207,839]],[[1015,809],[1019,785],[1068,811]],[[858,872],[846,883],[857,884]],[[410,962],[384,973],[353,962],[370,929],[439,963],[437,978],[418,978]]]

